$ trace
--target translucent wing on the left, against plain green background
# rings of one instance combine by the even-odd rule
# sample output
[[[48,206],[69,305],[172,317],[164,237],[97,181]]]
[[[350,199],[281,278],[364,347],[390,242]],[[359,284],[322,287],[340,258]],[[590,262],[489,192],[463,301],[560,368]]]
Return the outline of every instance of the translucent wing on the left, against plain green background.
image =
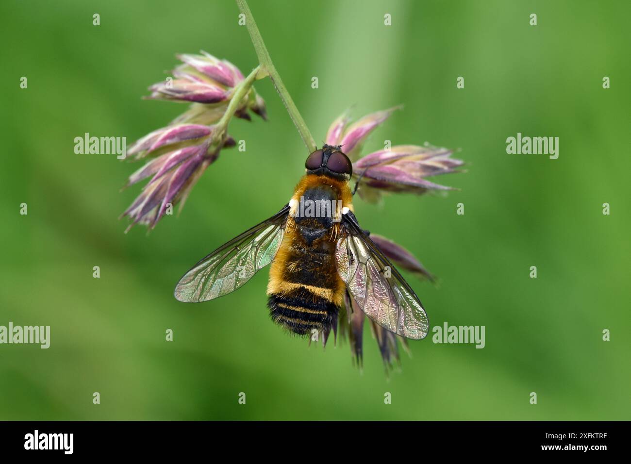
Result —
[[[180,278],[175,298],[208,301],[239,289],[272,262],[285,235],[289,206],[206,256]]]

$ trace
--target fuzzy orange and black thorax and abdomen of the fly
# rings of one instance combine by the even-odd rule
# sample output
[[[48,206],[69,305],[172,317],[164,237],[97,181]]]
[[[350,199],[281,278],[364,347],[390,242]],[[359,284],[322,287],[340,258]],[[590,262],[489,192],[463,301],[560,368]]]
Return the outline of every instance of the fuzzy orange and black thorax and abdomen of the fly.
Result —
[[[353,209],[348,181],[305,175],[295,188],[286,232],[269,271],[271,318],[298,335],[329,333],[338,323],[346,284],[338,274],[336,238],[343,208]],[[320,205],[305,213],[305,203]]]

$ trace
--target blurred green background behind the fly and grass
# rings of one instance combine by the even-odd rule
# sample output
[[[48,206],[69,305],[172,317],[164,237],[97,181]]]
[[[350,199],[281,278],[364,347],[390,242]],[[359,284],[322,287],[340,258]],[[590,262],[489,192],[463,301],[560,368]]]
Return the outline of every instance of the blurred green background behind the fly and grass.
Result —
[[[271,323],[266,271],[215,302],[177,302],[180,275],[277,211],[303,172],[304,145],[271,82],[256,85],[270,120],[230,126],[247,152],[223,152],[182,215],[149,235],[125,235],[117,220],[139,192],[119,193],[138,165],[75,155],[73,140],[131,143],[182,112],[140,99],[176,53],[256,66],[237,6],[5,0],[0,325],[50,325],[51,346],[0,345],[0,419],[629,419],[629,4],[250,6],[318,143],[350,105],[362,116],[404,104],[367,150],[385,139],[461,148],[468,172],[437,179],[461,190],[359,201],[356,212],[439,276],[439,287],[410,277],[432,326],[483,325],[486,347],[428,336],[388,380],[368,327],[360,374],[348,344],[323,352]],[[517,132],[558,136],[558,160],[507,155]]]

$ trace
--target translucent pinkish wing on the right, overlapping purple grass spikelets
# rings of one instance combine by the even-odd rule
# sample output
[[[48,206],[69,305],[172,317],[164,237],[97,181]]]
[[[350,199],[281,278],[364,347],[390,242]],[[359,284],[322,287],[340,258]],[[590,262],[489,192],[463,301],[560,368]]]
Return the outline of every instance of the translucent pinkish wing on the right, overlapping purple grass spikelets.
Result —
[[[429,321],[420,300],[399,271],[370,240],[349,212],[346,236],[336,244],[338,273],[366,316],[406,338],[425,338]]]

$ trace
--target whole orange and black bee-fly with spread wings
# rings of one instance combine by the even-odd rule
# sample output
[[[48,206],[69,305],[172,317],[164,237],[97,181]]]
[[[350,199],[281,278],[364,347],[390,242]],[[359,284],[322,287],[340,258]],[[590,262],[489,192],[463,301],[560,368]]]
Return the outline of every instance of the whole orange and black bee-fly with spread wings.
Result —
[[[175,298],[215,299],[271,263],[269,312],[294,333],[329,333],[348,294],[386,330],[425,337],[420,300],[353,214],[353,165],[340,150],[324,145],[311,153],[289,203],[199,261],[180,279]]]

